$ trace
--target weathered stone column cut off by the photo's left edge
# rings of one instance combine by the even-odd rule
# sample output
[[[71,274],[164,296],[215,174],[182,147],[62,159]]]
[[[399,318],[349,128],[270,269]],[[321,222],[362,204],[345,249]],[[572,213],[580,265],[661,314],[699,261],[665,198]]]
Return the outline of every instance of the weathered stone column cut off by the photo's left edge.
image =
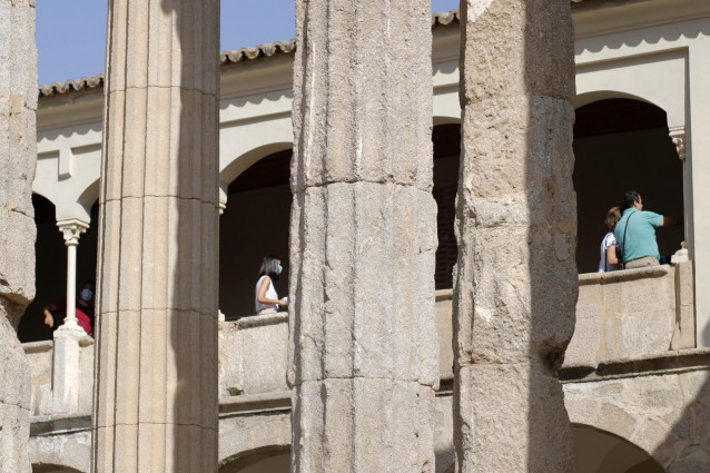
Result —
[[[17,327],[34,298],[34,0],[0,0],[0,473],[29,472],[30,368]]]

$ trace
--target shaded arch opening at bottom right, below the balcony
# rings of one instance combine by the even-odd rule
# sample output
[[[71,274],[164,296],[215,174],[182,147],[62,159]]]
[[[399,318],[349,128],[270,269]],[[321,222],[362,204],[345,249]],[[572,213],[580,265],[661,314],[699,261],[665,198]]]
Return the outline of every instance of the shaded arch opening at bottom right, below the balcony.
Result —
[[[572,424],[573,473],[665,473],[649,452],[633,442],[586,424]]]

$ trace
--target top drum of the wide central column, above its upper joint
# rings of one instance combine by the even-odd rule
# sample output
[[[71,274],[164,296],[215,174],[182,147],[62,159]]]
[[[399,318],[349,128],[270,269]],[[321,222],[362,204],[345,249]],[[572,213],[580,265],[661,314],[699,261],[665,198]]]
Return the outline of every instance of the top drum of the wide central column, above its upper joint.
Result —
[[[363,18],[368,27],[356,27]],[[297,24],[292,188],[371,181],[431,190],[431,12],[412,2],[312,1]]]

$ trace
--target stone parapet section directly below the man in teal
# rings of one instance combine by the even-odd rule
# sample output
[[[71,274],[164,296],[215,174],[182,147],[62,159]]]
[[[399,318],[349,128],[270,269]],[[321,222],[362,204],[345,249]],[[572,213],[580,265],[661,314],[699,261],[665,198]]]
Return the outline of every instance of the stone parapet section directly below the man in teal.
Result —
[[[694,347],[692,262],[580,275],[565,365]]]

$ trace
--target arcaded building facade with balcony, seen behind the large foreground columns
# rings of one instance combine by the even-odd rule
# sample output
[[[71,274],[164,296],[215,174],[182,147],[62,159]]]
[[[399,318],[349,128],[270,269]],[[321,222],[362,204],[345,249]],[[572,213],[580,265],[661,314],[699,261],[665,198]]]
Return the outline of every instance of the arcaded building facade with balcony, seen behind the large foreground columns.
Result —
[[[573,19],[580,296],[560,377],[574,471],[706,471],[710,295],[702,287],[710,282],[710,243],[702,236],[710,220],[702,209],[710,167],[702,157],[710,137],[702,130],[710,126],[710,4],[585,0],[574,3]],[[441,347],[435,471],[453,472],[457,12],[435,14],[432,32]],[[288,255],[294,49],[292,41],[221,55],[220,472],[286,472],[290,462],[288,318],[254,316],[253,302],[260,258]],[[81,338],[79,349],[63,356],[42,326],[41,307],[65,297],[67,285],[95,278],[102,87],[96,77],[40,88],[32,185],[37,297],[20,326],[32,371],[30,460],[38,472],[90,471],[93,341]],[[596,274],[603,216],[629,188],[642,194],[647,208],[684,217],[682,228],[659,230],[661,253],[673,255],[673,264]],[[58,270],[67,252],[77,254],[70,280]],[[287,288],[288,280],[277,283],[279,294]]]

